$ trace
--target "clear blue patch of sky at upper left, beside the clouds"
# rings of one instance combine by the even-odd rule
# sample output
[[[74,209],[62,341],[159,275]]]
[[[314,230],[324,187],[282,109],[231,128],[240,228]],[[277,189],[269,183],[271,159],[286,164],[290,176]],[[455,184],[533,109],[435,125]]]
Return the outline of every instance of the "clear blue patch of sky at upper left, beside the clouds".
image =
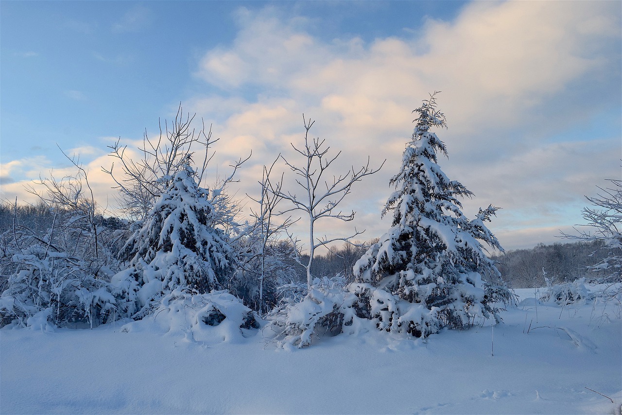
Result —
[[[233,42],[241,7],[302,14],[327,42],[343,35],[369,42],[401,34],[429,12],[450,17],[460,4],[3,1],[2,136],[74,146],[93,133],[135,134],[193,91],[230,95],[193,72],[207,50]],[[253,88],[243,95],[255,99]],[[2,162],[24,154],[21,142],[2,144]]]

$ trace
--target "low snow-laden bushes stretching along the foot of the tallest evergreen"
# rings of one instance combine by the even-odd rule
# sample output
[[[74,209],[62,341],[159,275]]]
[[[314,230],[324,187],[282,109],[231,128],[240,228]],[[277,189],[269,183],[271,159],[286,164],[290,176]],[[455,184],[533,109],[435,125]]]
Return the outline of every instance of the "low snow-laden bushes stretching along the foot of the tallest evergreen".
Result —
[[[282,300],[280,307],[267,316],[269,330],[276,333],[274,339],[279,347],[307,347],[313,338],[340,333],[355,334],[368,327],[412,337],[427,337],[450,325],[473,324],[475,316],[493,317],[491,304],[485,296],[493,287],[487,286],[478,273],[465,274],[461,286],[452,290],[452,302],[443,307],[429,307],[402,299],[398,294],[382,286],[364,282],[346,285],[343,277],[315,278],[312,288],[303,296],[294,290],[295,297]],[[430,295],[435,287],[429,289]],[[447,310],[450,310],[448,312]],[[371,322],[371,325],[369,324]]]

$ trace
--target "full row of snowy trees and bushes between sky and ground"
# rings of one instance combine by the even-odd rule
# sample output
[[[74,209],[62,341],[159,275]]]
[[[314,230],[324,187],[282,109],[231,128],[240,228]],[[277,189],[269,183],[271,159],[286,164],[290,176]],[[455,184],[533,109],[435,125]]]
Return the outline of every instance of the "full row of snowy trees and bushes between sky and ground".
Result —
[[[529,259],[520,251],[489,258],[486,247],[503,251],[486,226],[497,208],[466,218],[461,199],[473,194],[439,166],[447,147],[432,129],[446,123],[435,94],[414,113],[414,133],[389,182],[395,191],[381,212],[392,217],[391,227],[368,243],[353,241],[361,234],[356,230],[319,238],[318,223],[353,220],[355,212],[343,212],[341,202],[384,162],[374,168],[368,159],[335,173],[340,152],[313,138],[313,121],[304,116],[304,141],[292,143],[298,159],[279,154],[264,166],[246,219],[227,189],[250,156],[205,186],[218,140],[204,123],[193,128],[194,117],[181,106],[172,123],[160,124],[159,137],[145,134],[139,157],[119,141],[109,147],[114,163],[104,171],[116,183],[124,219],[104,217],[88,172],[67,157],[75,174],[41,179],[40,190],[30,189],[39,204],[0,206],[0,325],[93,327],[119,317],[144,319],[162,307],[170,312],[175,302],[184,309],[200,304],[202,317],[193,321],[217,325],[234,298],[246,310],[239,317],[241,308],[233,307],[240,329],[266,319],[284,345],[304,347],[318,327],[339,333],[361,321],[425,338],[443,327],[465,329],[476,318],[500,322],[499,312],[514,299],[508,281],[537,284],[534,267],[568,281],[582,264],[577,249],[616,248],[612,215],[613,239],[585,234],[574,251],[539,246]],[[272,174],[277,162],[289,168],[293,189]],[[589,212],[600,218],[600,211]],[[289,231],[299,220],[309,225],[307,254]],[[320,255],[322,247],[328,251]],[[588,267],[619,279],[619,258],[593,259]]]

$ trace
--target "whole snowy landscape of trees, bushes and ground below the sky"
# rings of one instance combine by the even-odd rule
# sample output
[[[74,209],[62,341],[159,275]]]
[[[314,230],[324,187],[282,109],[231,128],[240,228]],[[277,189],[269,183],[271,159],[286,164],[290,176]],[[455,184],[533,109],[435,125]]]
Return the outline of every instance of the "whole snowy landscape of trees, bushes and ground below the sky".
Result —
[[[113,147],[134,220],[103,217],[74,160],[78,175],[42,180],[39,205],[0,205],[0,411],[620,414],[622,182],[588,197],[593,232],[565,235],[594,249],[570,267],[586,276],[550,262],[577,251],[538,248],[531,261],[547,252],[554,273],[515,292],[488,251],[503,252],[486,226],[498,208],[462,212],[471,192],[437,163],[445,115],[435,94],[422,102],[390,180],[392,225],[367,243],[314,233],[353,220],[338,205],[378,170],[326,179],[339,153],[327,159],[306,119],[305,162],[281,157],[303,195],[264,166],[252,221],[226,195],[233,174],[200,186],[181,108],[141,162]],[[288,212],[309,223],[307,251]],[[338,268],[313,268],[328,258],[317,248]]]

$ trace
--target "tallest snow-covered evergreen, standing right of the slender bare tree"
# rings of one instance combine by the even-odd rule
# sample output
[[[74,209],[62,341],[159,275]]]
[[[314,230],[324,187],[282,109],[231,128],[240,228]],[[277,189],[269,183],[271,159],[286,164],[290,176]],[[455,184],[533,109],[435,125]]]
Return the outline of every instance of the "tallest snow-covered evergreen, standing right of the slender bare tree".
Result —
[[[383,210],[392,212],[392,226],[355,264],[359,282],[350,290],[360,297],[359,314],[415,337],[463,329],[476,315],[499,322],[499,302],[513,294],[481,245],[502,250],[485,225],[497,208],[480,209],[473,220],[463,215],[459,198],[471,192],[437,164],[437,153],[447,156],[447,148],[430,131],[446,127],[435,95],[413,112],[419,117],[412,139],[390,180],[397,191]]]

